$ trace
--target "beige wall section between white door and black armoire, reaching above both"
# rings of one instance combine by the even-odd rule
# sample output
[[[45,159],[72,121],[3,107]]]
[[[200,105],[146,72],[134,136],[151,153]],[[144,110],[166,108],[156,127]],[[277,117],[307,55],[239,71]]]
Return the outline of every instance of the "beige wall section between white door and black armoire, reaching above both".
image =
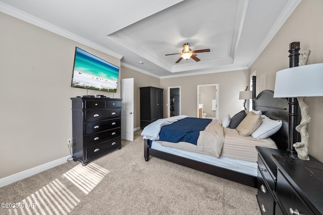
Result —
[[[140,127],[140,87],[159,88],[159,79],[121,66],[121,79],[134,78],[134,127]],[[165,104],[165,101],[164,101]]]

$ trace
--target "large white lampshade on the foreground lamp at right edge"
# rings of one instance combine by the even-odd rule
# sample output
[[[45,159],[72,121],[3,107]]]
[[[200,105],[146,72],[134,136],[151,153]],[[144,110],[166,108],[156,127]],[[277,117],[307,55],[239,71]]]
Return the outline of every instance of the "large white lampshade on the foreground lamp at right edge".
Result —
[[[295,66],[276,73],[274,98],[323,96],[323,63]]]

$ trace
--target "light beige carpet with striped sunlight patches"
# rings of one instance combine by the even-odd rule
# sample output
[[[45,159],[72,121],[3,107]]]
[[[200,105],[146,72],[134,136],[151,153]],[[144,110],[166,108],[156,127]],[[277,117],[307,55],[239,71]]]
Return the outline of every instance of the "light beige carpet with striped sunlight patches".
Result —
[[[84,167],[70,161],[0,188],[0,203],[10,206],[0,214],[260,214],[255,188],[145,162],[140,133]]]

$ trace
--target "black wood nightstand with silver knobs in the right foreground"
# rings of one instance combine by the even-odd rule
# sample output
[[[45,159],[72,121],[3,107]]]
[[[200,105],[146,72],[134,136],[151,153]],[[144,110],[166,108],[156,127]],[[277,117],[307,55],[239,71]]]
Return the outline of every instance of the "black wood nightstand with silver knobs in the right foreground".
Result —
[[[287,151],[256,147],[257,201],[262,214],[322,214],[323,164],[290,158]]]

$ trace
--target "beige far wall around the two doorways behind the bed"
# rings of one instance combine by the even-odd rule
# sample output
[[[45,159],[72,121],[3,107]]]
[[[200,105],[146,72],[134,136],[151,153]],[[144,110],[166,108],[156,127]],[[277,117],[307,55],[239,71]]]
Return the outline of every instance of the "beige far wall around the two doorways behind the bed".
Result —
[[[219,84],[219,119],[230,114],[233,116],[243,109],[243,100],[239,92],[249,86],[249,70],[226,71],[198,76],[160,79],[160,88],[164,89],[164,116],[167,116],[168,87],[181,87],[181,114],[190,117],[197,115],[197,85]]]

